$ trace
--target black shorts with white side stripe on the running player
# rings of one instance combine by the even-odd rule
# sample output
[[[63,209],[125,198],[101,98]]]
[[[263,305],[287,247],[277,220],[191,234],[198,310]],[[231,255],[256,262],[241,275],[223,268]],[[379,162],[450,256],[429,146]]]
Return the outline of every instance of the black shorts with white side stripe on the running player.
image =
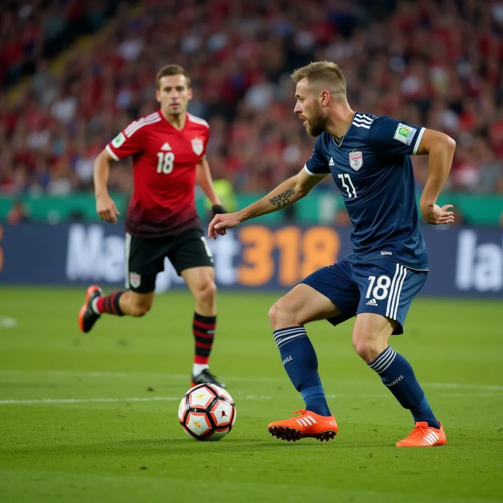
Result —
[[[155,290],[155,277],[164,270],[164,258],[178,275],[192,267],[213,267],[204,233],[192,228],[165,237],[136,237],[126,233],[126,288],[138,293]]]

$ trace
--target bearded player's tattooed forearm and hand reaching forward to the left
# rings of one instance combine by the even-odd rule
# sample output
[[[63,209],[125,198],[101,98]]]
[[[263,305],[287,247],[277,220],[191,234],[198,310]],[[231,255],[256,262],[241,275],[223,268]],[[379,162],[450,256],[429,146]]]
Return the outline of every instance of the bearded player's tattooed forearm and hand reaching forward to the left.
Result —
[[[304,196],[307,196],[309,191],[317,183],[321,182],[321,180],[322,177],[313,177],[302,169],[297,175],[278,185],[267,196],[246,206],[246,208],[234,213],[215,215],[208,225],[208,237],[216,239],[217,234],[223,236],[226,233],[226,229],[236,227],[245,220],[272,213],[295,203]]]

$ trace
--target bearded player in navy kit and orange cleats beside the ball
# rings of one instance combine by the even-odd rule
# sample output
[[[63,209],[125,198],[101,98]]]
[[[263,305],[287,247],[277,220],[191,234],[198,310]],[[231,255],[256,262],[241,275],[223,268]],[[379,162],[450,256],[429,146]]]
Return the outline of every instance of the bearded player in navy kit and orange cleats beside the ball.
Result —
[[[420,200],[426,222],[454,221],[451,205],[436,204],[449,174],[455,142],[449,136],[387,116],[353,111],[339,66],[319,61],[297,69],[294,111],[317,136],[304,168],[248,207],[216,215],[208,235],[216,238],[244,220],[270,213],[306,196],[331,175],[348,210],[353,251],[337,264],[304,278],[270,309],[274,339],[285,370],[300,391],[300,415],[269,425],[285,440],[329,440],[337,423],[326,403],[316,353],[304,325],[326,319],[337,325],[356,316],[352,342],[398,402],[411,411],[415,427],[397,447],[444,445],[446,435],[407,360],[388,346],[403,333],[412,299],[428,274],[409,155],[429,155],[428,179]]]

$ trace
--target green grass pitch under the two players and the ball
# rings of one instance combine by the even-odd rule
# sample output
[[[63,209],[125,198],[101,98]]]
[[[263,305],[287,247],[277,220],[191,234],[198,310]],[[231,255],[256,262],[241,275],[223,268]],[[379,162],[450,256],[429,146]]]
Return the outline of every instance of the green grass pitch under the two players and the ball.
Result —
[[[279,294],[219,293],[211,363],[237,420],[228,437],[205,443],[177,420],[192,367],[190,295],[160,295],[141,319],[104,315],[84,335],[84,291],[0,289],[0,501],[501,500],[501,302],[413,303],[391,344],[414,367],[448,443],[397,449],[410,414],[352,349],[352,321],[307,326],[338,436],[287,443],[267,431],[303,404],[267,319]]]

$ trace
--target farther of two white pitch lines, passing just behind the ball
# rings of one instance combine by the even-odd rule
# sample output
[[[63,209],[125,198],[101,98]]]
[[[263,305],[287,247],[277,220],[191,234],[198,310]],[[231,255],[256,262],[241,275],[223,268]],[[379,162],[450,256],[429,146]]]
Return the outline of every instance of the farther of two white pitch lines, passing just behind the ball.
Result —
[[[54,377],[109,377],[109,378],[141,378],[141,379],[173,379],[173,380],[186,380],[187,374],[167,374],[161,372],[101,372],[101,371],[66,371],[66,370],[0,370],[0,375],[46,375]],[[286,382],[287,377],[243,377],[234,376],[227,377],[229,381],[237,382]],[[324,379],[324,382],[338,382],[338,383],[358,383],[369,384],[373,381],[369,380],[335,380]],[[503,391],[503,386],[493,384],[463,384],[463,383],[447,383],[447,382],[430,382],[421,383],[422,386],[430,388],[441,389],[478,389],[486,391]]]

